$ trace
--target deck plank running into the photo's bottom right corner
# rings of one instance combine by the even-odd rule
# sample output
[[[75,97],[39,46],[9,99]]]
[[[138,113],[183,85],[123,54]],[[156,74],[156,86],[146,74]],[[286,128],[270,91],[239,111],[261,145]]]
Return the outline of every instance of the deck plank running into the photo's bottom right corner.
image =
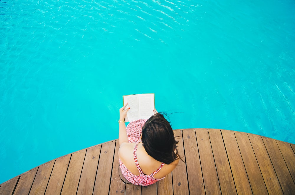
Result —
[[[285,160],[281,154],[280,149],[278,148],[278,144],[276,140],[270,138],[262,138],[268,155],[273,164],[273,168],[276,171],[276,175],[281,184],[281,188],[284,194],[294,194],[295,192],[295,184],[292,180],[289,169],[285,163]]]

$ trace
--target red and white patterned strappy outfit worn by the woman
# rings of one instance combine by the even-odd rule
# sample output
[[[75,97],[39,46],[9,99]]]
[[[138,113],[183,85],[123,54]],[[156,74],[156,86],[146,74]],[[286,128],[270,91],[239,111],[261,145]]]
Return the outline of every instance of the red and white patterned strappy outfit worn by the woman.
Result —
[[[146,121],[147,121],[147,119],[140,119],[140,120],[137,120],[137,121],[132,121],[126,127],[126,131],[127,131],[127,135],[128,135],[128,142],[129,143],[136,142],[135,148],[133,150],[133,157],[134,157],[136,167],[137,167],[138,171],[140,172],[140,175],[134,175],[133,173],[131,173],[131,171],[129,171],[125,167],[125,165],[121,162],[121,160],[119,160],[120,161],[120,168],[121,168],[121,171],[122,171],[124,177],[128,181],[133,183],[134,185],[140,185],[140,186],[148,186],[148,185],[156,183],[157,181],[160,181],[161,179],[165,178],[165,177],[163,177],[161,179],[154,178],[154,175],[161,170],[164,163],[162,163],[160,165],[160,167],[157,168],[150,175],[145,175],[142,172],[142,170],[141,170],[141,168],[140,168],[140,166],[138,164],[137,156],[136,156],[136,150],[137,150],[138,143],[141,142],[141,140],[140,140],[141,127],[145,124]]]

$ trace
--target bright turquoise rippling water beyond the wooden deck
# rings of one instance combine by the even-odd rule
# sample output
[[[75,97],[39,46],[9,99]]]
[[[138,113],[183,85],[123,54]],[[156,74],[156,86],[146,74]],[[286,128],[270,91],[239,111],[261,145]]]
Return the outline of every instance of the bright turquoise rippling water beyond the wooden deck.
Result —
[[[174,129],[295,143],[294,1],[0,0],[0,183],[118,138],[122,95]]]

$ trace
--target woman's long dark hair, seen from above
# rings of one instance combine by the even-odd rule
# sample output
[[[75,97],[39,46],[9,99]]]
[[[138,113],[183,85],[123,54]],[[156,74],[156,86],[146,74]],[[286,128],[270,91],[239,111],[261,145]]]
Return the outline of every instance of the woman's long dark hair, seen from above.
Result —
[[[148,155],[160,162],[170,164],[179,158],[176,147],[178,141],[162,113],[154,114],[145,122],[141,140]]]

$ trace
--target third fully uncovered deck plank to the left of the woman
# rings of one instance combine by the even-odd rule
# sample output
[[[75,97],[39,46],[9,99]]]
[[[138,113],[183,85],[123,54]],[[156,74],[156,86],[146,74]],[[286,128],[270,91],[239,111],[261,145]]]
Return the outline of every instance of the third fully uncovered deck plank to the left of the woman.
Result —
[[[68,171],[65,176],[65,182],[61,194],[76,194],[81,176],[82,166],[85,159],[86,150],[73,153],[71,156]]]

